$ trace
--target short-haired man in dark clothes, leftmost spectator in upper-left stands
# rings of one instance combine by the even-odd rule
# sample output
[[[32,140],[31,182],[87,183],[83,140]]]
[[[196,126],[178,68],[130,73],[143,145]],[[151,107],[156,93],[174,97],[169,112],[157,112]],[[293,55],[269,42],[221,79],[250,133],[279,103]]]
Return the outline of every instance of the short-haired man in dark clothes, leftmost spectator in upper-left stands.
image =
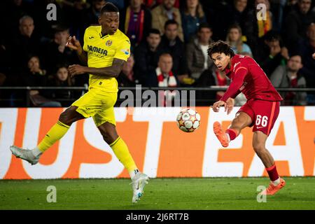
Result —
[[[38,55],[39,53],[39,38],[34,34],[34,20],[28,15],[20,18],[20,34],[13,38],[13,41],[8,45],[10,52],[10,61],[14,64],[13,68],[17,72],[27,70],[27,61],[29,55]]]

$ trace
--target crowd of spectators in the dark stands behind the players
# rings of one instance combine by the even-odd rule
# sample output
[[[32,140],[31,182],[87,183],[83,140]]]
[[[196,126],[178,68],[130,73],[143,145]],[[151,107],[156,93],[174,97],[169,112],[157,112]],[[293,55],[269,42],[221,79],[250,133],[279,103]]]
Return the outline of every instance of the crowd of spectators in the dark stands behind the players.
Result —
[[[120,9],[120,30],[132,43],[118,76],[120,87],[210,87],[229,84],[207,55],[211,41],[227,41],[253,57],[275,87],[315,87],[315,7],[311,0],[4,0],[0,1],[0,85],[84,86],[88,76],[70,78],[80,64],[66,48],[69,36],[83,45],[84,31],[98,24],[106,2]],[[46,18],[49,3],[57,20]],[[264,3],[266,13],[258,4]],[[219,99],[223,92],[197,97]],[[281,92],[282,105],[314,105],[315,92]],[[25,91],[0,92],[2,106],[25,106]],[[31,90],[33,106],[69,106],[80,92]]]

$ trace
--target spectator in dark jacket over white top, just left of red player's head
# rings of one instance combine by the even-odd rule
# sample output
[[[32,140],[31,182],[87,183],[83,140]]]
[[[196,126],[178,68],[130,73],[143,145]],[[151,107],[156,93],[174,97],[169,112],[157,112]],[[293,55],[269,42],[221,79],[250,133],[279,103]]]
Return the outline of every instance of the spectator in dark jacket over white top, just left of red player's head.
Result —
[[[212,29],[207,23],[201,24],[197,31],[197,38],[187,45],[186,55],[190,76],[196,80],[202,71],[213,65],[207,54],[209,43],[212,42]]]

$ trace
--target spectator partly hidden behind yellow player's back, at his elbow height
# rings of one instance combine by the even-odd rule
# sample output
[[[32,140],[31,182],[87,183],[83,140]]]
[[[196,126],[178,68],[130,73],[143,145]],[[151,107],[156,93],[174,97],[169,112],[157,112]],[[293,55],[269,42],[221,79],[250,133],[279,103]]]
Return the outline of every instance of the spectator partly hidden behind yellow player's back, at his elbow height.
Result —
[[[134,79],[134,55],[130,55],[127,62],[123,65],[117,81],[120,87],[135,86],[138,80]]]

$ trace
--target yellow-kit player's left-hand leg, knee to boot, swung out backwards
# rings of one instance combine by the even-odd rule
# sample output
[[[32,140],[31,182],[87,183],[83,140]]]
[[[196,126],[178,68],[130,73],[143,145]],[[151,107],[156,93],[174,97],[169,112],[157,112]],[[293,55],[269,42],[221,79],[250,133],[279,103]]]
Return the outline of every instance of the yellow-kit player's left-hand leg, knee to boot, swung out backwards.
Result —
[[[85,118],[80,113],[76,112],[76,106],[70,106],[59,116],[59,120],[53,125],[48,133],[45,135],[43,140],[38,144],[37,147],[32,150],[18,148],[17,146],[10,146],[10,151],[15,155],[16,158],[26,160],[31,165],[36,165],[38,160],[48,148],[50,148],[56,141],[61,139],[66,132],[68,132],[70,125],[77,120]]]

